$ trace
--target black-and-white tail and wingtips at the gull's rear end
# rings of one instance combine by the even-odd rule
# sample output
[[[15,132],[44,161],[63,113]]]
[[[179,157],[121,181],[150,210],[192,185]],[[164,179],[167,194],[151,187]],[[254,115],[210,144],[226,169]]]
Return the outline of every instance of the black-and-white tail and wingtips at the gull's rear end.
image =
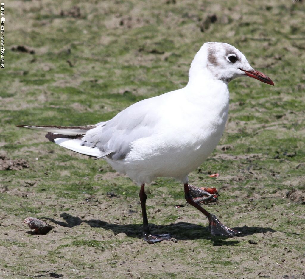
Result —
[[[47,134],[45,137],[56,144],[70,149],[74,152],[88,155],[91,157],[105,157],[112,153],[112,151],[101,152],[96,147],[86,146],[86,142],[82,140],[84,134],[87,131],[97,127],[96,125],[88,126],[75,126],[75,127],[65,127],[65,126],[28,126],[28,125],[17,125],[17,127],[28,128],[34,130],[45,131]],[[97,158],[98,159],[98,158]]]

